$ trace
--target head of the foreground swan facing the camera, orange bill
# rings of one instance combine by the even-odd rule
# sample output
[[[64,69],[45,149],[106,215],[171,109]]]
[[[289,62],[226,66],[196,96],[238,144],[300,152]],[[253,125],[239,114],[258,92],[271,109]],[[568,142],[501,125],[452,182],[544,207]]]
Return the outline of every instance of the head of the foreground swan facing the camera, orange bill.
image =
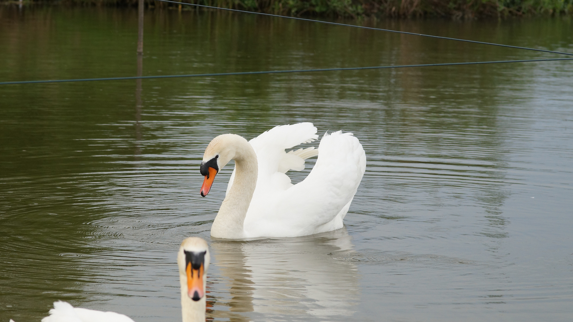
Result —
[[[209,248],[203,238],[189,237],[181,243],[177,262],[182,293],[187,293],[193,301],[199,301],[205,296],[205,276],[209,261]]]

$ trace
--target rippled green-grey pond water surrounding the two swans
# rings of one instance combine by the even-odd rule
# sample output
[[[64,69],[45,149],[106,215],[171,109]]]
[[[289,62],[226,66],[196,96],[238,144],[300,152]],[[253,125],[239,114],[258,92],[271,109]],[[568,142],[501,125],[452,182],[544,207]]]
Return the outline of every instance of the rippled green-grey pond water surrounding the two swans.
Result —
[[[347,21],[573,52],[571,18]],[[135,9],[0,7],[0,81],[134,76]],[[146,12],[143,74],[560,57],[217,11]],[[571,61],[0,86],[0,320],[53,301],[180,321],[176,251],[211,249],[216,321],[570,321]],[[366,174],[341,230],[221,241],[214,136],[311,121]],[[317,142],[304,146],[317,146]],[[299,182],[301,172],[288,172]]]

